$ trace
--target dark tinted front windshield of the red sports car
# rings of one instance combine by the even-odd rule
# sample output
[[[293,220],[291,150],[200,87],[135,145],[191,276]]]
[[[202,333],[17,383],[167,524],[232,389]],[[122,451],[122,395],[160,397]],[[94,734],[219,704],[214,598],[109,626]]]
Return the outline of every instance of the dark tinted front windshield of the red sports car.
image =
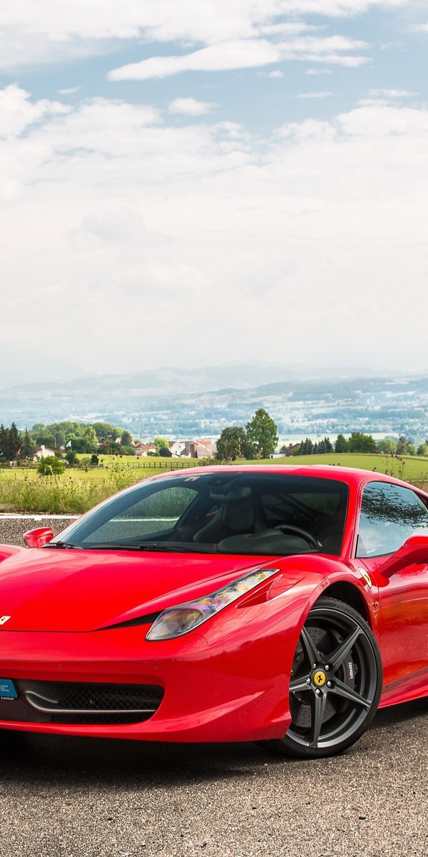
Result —
[[[45,548],[338,555],[348,486],[227,471],[147,480],[106,500]]]

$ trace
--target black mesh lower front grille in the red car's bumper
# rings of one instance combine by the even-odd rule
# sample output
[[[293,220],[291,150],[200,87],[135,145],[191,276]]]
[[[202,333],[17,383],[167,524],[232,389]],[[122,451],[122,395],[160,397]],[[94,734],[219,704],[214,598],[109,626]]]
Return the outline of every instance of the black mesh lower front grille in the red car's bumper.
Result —
[[[0,720],[118,724],[148,720],[158,710],[158,685],[14,680],[15,700],[0,699]]]

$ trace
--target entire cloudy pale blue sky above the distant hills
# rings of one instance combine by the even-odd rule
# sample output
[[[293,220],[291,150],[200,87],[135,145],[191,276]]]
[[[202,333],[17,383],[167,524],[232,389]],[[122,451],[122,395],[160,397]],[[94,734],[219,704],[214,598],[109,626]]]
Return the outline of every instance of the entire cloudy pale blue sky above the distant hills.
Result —
[[[428,371],[427,51],[426,0],[3,3],[3,375]]]

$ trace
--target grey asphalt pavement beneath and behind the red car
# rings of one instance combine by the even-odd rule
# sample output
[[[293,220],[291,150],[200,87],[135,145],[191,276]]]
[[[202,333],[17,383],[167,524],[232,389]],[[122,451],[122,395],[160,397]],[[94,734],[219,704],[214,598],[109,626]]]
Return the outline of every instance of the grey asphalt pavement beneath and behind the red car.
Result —
[[[52,522],[56,530],[58,522]],[[0,519],[0,542],[45,521]],[[1,857],[428,854],[428,700],[345,755],[0,735]]]

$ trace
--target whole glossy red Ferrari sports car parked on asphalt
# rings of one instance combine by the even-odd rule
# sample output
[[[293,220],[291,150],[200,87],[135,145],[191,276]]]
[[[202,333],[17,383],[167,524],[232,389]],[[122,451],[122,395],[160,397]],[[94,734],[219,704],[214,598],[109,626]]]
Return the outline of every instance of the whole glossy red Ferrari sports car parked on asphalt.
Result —
[[[175,471],[26,542],[0,547],[1,728],[320,757],[428,694],[428,495],[405,482]]]

